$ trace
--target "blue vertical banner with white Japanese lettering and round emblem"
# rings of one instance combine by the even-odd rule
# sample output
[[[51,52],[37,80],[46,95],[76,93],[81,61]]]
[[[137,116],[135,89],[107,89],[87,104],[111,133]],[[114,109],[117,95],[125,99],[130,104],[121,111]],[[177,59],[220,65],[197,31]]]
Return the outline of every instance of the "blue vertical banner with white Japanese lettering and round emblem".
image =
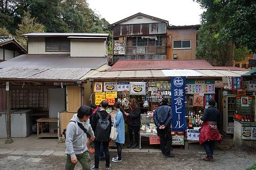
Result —
[[[186,78],[175,77],[172,83],[172,130],[186,131]]]

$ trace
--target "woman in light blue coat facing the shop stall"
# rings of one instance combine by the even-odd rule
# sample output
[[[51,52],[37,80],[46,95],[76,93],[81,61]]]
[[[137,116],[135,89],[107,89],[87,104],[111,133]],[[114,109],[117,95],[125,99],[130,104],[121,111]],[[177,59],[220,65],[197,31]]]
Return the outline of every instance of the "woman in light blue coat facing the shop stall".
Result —
[[[122,145],[125,143],[125,119],[124,119],[124,111],[120,107],[120,103],[116,102],[114,105],[114,109],[117,111],[116,117],[114,118],[114,123],[116,124],[116,131],[118,133],[116,137],[116,147],[118,156],[112,158],[113,162],[121,162],[122,161]]]

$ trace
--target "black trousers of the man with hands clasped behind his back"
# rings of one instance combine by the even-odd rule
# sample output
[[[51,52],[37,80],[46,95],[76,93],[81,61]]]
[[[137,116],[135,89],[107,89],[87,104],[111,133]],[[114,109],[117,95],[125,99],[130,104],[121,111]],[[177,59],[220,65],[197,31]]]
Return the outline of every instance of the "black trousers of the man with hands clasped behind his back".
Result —
[[[164,129],[157,128],[157,135],[160,137],[160,148],[162,153],[169,155],[172,147],[172,134],[171,128],[166,127]]]

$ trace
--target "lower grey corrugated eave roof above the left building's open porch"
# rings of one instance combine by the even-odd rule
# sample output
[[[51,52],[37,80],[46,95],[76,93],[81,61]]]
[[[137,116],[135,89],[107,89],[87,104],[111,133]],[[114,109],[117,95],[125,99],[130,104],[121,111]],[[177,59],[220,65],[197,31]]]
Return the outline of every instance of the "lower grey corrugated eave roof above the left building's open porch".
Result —
[[[0,79],[79,80],[90,68],[2,68]]]

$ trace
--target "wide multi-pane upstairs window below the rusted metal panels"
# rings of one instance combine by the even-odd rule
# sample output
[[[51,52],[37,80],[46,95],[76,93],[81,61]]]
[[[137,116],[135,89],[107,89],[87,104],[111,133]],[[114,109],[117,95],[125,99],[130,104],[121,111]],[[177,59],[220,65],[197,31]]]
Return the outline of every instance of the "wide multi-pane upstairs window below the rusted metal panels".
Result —
[[[127,37],[126,54],[164,54],[165,36]]]

